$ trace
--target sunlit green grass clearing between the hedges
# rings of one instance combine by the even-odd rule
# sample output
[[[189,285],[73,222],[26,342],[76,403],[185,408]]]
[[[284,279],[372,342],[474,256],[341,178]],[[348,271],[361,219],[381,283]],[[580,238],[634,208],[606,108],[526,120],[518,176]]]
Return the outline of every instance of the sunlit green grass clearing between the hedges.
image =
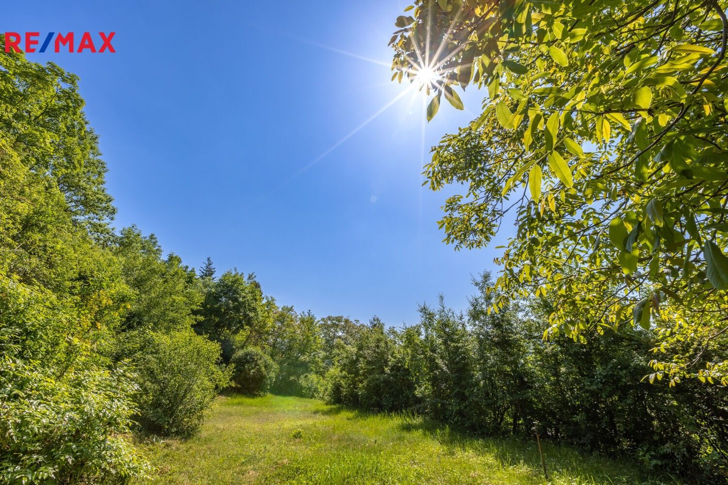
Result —
[[[535,443],[295,397],[221,397],[195,438],[139,446],[159,484],[545,483]],[[551,484],[661,483],[625,462],[544,446]]]

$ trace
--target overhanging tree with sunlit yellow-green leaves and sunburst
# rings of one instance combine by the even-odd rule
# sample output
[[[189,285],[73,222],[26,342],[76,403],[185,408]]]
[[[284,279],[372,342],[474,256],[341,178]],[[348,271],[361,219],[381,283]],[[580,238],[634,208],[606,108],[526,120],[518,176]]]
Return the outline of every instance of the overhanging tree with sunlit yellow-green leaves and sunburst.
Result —
[[[496,307],[555,298],[545,336],[656,329],[649,380],[728,384],[728,22],[724,1],[417,0],[390,44],[402,81],[477,119],[433,149],[440,220],[479,247],[516,221]],[[687,342],[687,345],[686,343]],[[687,346],[687,351],[685,348]],[[679,350],[678,350],[679,349]]]

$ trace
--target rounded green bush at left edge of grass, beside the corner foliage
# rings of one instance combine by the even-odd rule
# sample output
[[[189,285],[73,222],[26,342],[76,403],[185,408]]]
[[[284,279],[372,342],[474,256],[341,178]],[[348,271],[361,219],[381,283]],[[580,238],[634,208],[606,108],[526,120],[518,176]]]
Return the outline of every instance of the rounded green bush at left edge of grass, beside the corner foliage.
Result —
[[[150,334],[139,368],[141,424],[164,436],[194,434],[230,380],[219,360],[220,344],[191,329]]]

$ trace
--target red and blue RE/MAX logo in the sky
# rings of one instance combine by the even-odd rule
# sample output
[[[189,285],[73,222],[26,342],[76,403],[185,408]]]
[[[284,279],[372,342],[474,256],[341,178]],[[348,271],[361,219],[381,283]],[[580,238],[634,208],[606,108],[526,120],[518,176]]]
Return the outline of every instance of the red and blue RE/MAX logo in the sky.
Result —
[[[25,50],[20,50],[20,44],[23,41],[23,36],[17,32],[6,32],[5,33],[5,52],[10,52],[12,49],[14,52],[46,52],[46,49],[50,47],[53,42],[53,52],[60,52],[61,46],[63,50],[68,49],[68,52],[116,52],[114,46],[111,45],[111,39],[114,39],[116,32],[99,32],[99,39],[94,43],[94,38],[90,32],[84,32],[81,36],[75,36],[73,32],[68,32],[66,35],[63,33],[49,32],[45,37],[43,44],[40,49],[36,49],[36,46],[40,44],[40,32],[25,32]],[[55,41],[54,41],[55,37]],[[79,39],[80,38],[80,39]],[[78,49],[74,50],[74,40],[78,39]],[[96,46],[100,46],[96,49]]]

